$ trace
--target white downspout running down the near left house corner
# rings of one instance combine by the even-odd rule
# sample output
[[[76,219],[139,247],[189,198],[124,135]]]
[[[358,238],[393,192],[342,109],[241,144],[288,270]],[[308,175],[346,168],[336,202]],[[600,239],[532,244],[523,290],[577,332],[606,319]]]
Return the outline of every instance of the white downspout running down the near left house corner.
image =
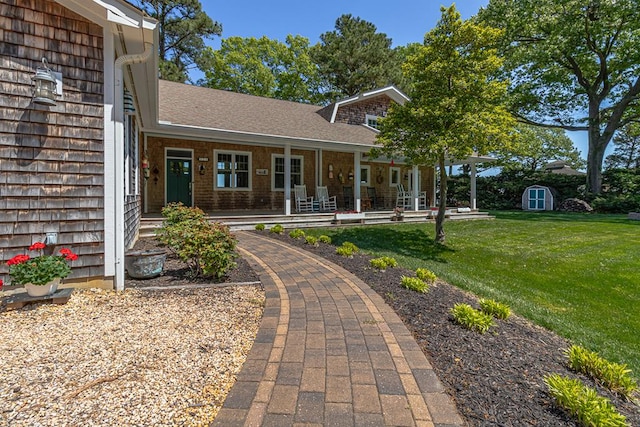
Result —
[[[123,68],[128,64],[139,64],[147,61],[153,53],[153,44],[145,43],[144,52],[122,55],[115,61],[113,85],[113,115],[115,141],[115,285],[116,290],[124,290],[124,83]]]

